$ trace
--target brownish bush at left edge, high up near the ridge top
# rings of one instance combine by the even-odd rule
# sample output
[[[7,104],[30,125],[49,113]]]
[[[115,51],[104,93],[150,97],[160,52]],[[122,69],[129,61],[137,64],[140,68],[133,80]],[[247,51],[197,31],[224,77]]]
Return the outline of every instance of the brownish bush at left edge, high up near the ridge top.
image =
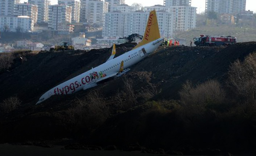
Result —
[[[13,59],[14,56],[11,52],[4,52],[0,54],[0,71],[10,68],[13,63]]]

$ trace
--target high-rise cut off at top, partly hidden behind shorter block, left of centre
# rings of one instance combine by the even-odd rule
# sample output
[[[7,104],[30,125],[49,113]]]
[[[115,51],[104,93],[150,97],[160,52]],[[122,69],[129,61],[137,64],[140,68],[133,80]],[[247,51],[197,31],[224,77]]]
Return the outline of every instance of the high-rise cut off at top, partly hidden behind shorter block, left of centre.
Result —
[[[77,0],[58,0],[58,4],[64,4],[72,7],[72,23],[79,23],[80,19],[80,1]]]

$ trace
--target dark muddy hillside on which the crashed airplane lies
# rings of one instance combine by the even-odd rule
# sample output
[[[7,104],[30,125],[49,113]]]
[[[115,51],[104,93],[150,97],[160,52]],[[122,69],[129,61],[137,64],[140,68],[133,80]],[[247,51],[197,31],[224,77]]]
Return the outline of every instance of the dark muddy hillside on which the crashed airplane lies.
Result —
[[[119,45],[116,55],[134,46]],[[188,132],[186,123],[181,125],[183,121],[179,122],[179,117],[167,114],[174,108],[180,108],[179,91],[187,80],[195,85],[216,80],[222,88],[228,88],[231,63],[237,59],[243,61],[248,54],[255,52],[256,42],[236,43],[228,47],[159,47],[117,79],[75,94],[52,96],[35,105],[47,90],[106,62],[111,50],[41,51],[38,54],[26,51],[15,54],[11,66],[0,72],[0,102],[9,97],[17,97],[21,102],[17,109],[0,114],[0,142],[46,142],[70,138],[70,142],[100,146],[115,144],[120,148],[136,142],[149,148],[175,147],[177,150],[191,145],[221,148],[215,146],[221,142],[216,136],[221,128],[216,130],[216,134],[210,133],[214,131],[212,129],[207,133],[206,128],[207,132],[197,134],[197,139],[197,135],[187,139],[185,136],[191,136],[191,132],[198,132],[197,128],[202,127],[193,127]],[[166,101],[172,101],[172,104],[166,104]],[[164,113],[160,109],[162,107],[165,108]],[[155,110],[161,110],[163,114]],[[166,123],[169,122],[176,128],[168,126]],[[234,141],[229,139],[227,136],[226,142]],[[234,147],[224,141],[219,145],[225,149]]]

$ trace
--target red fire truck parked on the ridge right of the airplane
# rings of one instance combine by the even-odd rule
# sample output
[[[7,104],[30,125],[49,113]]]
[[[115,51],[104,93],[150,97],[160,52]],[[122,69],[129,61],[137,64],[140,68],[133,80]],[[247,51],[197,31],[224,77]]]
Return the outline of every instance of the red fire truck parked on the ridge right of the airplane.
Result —
[[[236,43],[236,37],[210,37],[208,35],[200,35],[199,38],[194,38],[194,44],[196,46],[221,46],[231,45]]]

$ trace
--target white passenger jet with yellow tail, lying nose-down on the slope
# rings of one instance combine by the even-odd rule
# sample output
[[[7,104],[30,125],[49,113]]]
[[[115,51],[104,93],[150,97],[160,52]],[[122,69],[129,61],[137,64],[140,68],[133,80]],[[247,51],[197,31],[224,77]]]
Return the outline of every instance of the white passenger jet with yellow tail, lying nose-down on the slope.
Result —
[[[112,54],[107,62],[51,88],[40,97],[36,105],[53,95],[72,94],[82,89],[95,87],[97,83],[110,77],[120,77],[130,70],[128,67],[140,62],[155,51],[162,44],[164,38],[160,36],[156,10],[153,10],[149,13],[143,40],[131,51],[114,58],[116,50],[113,45]]]

